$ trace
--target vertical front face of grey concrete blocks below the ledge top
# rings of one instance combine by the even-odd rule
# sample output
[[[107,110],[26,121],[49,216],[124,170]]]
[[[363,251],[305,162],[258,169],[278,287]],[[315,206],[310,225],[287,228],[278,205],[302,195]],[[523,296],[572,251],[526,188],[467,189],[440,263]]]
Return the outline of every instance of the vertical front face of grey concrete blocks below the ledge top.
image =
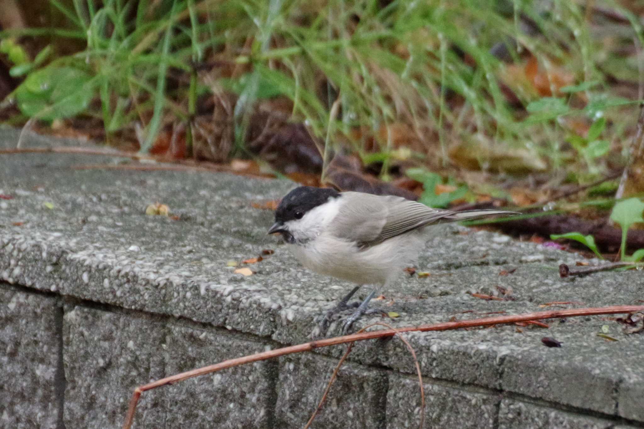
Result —
[[[0,282],[0,427],[118,428],[134,387],[281,347],[267,338]],[[335,358],[285,356],[143,394],[137,428],[299,428]],[[641,422],[424,379],[426,428],[634,428]],[[415,428],[415,374],[348,362],[315,428]],[[639,412],[640,410],[636,410]]]

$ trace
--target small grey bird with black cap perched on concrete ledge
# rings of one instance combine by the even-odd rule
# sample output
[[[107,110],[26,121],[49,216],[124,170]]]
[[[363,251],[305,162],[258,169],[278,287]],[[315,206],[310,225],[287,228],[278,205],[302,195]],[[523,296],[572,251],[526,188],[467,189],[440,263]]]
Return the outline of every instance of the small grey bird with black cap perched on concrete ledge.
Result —
[[[361,285],[386,286],[410,266],[424,246],[425,226],[499,214],[516,213],[451,212],[402,197],[299,187],[283,197],[268,233],[280,233],[306,268],[359,285],[328,311],[321,323],[321,331],[326,333],[332,316],[354,308],[343,325],[346,333],[362,315],[380,312],[368,309],[375,291],[362,303],[348,301]]]

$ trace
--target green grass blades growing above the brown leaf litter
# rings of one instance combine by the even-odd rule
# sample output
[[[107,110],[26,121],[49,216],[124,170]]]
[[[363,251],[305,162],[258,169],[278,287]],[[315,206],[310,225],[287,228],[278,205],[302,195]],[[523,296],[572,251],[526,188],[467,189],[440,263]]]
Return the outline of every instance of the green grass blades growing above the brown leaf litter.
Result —
[[[149,0],[104,0],[102,6],[73,0],[71,8],[50,3],[71,27],[20,34],[82,38],[86,48],[30,73],[51,72],[48,84],[90,93],[96,102],[62,109],[66,99],[76,99],[52,99],[23,86],[13,95],[19,107],[21,98],[40,97],[43,111],[23,113],[97,118],[108,139],[138,122],[143,152],[175,123],[187,125],[193,138],[200,97],[234,91],[235,145],[225,156],[245,151],[258,102],[284,97],[292,102],[291,120],[307,123],[327,147],[343,144],[363,158],[377,152],[385,178],[395,161],[391,130],[403,124],[417,143],[417,158],[424,156],[419,163],[431,170],[450,168],[455,145],[485,141],[484,149],[472,151],[484,167],[493,163],[494,151],[522,151],[585,183],[605,174],[609,155],[623,161],[641,96],[630,91],[625,98],[615,79],[642,85],[636,55],[623,51],[641,49],[643,30],[634,14],[611,2],[602,7],[626,21],[567,0],[544,10],[522,0],[164,0],[153,8]],[[522,16],[538,31],[524,32]],[[502,44],[509,61],[492,53]],[[544,95],[526,82],[528,52],[540,73],[554,79],[553,89],[562,86],[555,82],[562,75],[570,80],[567,89]],[[57,68],[88,78],[69,87],[53,72]],[[509,102],[509,90],[518,105]],[[593,138],[570,125],[600,118]]]

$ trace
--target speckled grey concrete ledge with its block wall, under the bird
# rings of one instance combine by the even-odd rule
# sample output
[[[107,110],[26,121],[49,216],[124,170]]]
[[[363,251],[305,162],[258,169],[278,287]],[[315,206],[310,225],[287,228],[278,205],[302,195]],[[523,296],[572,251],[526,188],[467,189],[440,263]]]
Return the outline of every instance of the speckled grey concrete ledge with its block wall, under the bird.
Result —
[[[77,144],[36,139],[25,144]],[[0,132],[0,146],[13,144],[15,133]],[[251,203],[276,199],[291,183],[74,169],[86,162],[78,155],[0,157],[0,194],[13,197],[0,200],[0,371],[9,378],[0,403],[10,404],[0,413],[3,425],[117,427],[136,385],[308,341],[314,318],[350,288],[301,269],[265,235],[272,212]],[[145,215],[156,201],[178,220]],[[249,277],[227,264],[263,249],[275,254],[250,265]],[[450,226],[421,252],[420,268],[431,275],[401,277],[379,291],[381,306],[400,314],[388,323],[403,326],[539,311],[552,301],[608,306],[644,298],[638,271],[558,278],[558,264],[575,259]],[[509,269],[516,270],[500,275]],[[549,325],[406,334],[426,378],[426,426],[644,427],[644,335],[627,336],[601,317]],[[596,335],[604,325],[618,342]],[[547,349],[543,336],[564,347]],[[344,350],[147,392],[137,427],[301,427]],[[355,345],[317,427],[413,427],[414,374],[397,339]]]

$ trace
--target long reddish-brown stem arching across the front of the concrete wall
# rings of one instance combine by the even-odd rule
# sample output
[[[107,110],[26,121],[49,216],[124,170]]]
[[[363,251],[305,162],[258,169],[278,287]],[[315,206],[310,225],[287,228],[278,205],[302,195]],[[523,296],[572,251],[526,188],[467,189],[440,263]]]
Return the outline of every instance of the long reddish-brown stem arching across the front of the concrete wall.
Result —
[[[540,320],[540,319],[574,317],[574,316],[614,315],[614,314],[634,313],[636,311],[644,311],[644,306],[610,306],[610,307],[589,307],[589,308],[578,308],[578,309],[560,309],[560,310],[552,310],[552,311],[537,311],[535,313],[526,313],[523,315],[495,316],[495,317],[485,317],[485,318],[478,318],[478,319],[471,319],[471,320],[459,320],[458,322],[443,322],[440,324],[433,324],[433,325],[409,326],[409,327],[402,327],[399,329],[383,329],[381,331],[369,331],[369,332],[364,332],[360,334],[338,336],[335,338],[325,338],[324,340],[317,340],[317,341],[312,341],[312,342],[298,344],[298,345],[291,345],[289,347],[283,347],[281,349],[251,354],[249,356],[243,356],[242,358],[229,359],[220,363],[215,363],[214,365],[208,365],[207,367],[193,369],[191,371],[182,372],[181,374],[175,374],[174,376],[162,378],[162,379],[153,381],[151,383],[147,383],[146,385],[142,385],[135,388],[134,393],[132,395],[132,399],[129,403],[128,414],[126,415],[123,428],[124,429],[131,428],[132,421],[134,420],[134,415],[137,410],[138,399],[143,392],[146,392],[146,390],[151,390],[153,388],[177,383],[178,381],[184,381],[185,379],[193,378],[196,376],[202,376],[204,374],[220,371],[222,369],[236,367],[238,365],[243,365],[244,363],[251,363],[251,362],[256,362],[261,360],[267,360],[270,358],[277,358],[279,356],[285,356],[287,354],[292,354],[292,353],[312,351],[314,349],[319,349],[320,347],[328,347],[330,345],[345,344],[345,343],[351,343],[351,342],[363,341],[363,340],[372,340],[373,338],[384,338],[384,337],[393,336],[397,333],[403,333],[403,332],[449,331],[451,329],[461,329],[461,328],[468,328],[468,327],[480,327],[480,326],[489,326],[489,325],[497,325],[497,324],[511,324],[514,322],[527,322],[528,320]]]

